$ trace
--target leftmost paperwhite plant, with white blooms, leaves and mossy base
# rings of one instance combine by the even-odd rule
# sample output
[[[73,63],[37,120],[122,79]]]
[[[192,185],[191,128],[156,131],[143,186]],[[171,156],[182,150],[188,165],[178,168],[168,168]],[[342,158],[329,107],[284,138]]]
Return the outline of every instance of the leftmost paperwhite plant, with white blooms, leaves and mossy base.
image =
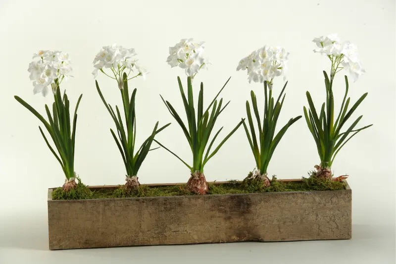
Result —
[[[33,93],[41,93],[46,97],[51,91],[54,98],[51,109],[45,105],[48,121],[20,97],[15,96],[15,99],[43,123],[49,134],[50,140],[48,140],[41,126],[39,126],[44,141],[59,162],[65,175],[65,182],[62,188],[56,189],[54,193],[57,193],[62,198],[77,196],[89,198],[89,190],[81,183],[80,178],[74,171],[77,109],[83,95],[77,100],[74,115],[70,116],[70,102],[66,91],[63,92],[63,96],[60,92],[62,81],[71,76],[72,68],[69,54],[59,51],[40,50],[33,55],[33,59],[35,60],[30,62],[28,68],[30,80],[33,81]],[[54,148],[51,146],[50,141],[55,146]],[[79,183],[76,182],[76,178]]]

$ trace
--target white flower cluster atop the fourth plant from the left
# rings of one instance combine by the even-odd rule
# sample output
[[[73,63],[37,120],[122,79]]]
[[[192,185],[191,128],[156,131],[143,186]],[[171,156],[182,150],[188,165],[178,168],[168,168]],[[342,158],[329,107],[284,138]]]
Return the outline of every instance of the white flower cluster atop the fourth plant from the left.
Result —
[[[281,47],[264,46],[253,51],[239,61],[238,70],[247,70],[248,81],[256,83],[267,82],[272,89],[272,81],[276,76],[283,76],[286,80],[286,63],[288,55]]]

